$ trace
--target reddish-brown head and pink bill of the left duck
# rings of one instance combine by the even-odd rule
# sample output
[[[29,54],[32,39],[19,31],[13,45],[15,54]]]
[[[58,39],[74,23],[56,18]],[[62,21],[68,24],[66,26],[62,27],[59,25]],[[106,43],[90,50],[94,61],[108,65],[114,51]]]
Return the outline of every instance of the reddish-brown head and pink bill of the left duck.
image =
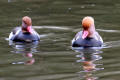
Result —
[[[31,33],[32,20],[30,17],[25,16],[22,18],[22,31]]]

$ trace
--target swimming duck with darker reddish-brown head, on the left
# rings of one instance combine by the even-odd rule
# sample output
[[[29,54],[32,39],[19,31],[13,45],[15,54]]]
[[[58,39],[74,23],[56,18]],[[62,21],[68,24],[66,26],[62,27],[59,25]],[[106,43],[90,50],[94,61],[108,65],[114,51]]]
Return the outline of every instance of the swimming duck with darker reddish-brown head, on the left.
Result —
[[[12,30],[9,40],[14,42],[40,41],[40,35],[32,28],[32,19],[29,16],[22,18],[22,25]]]

